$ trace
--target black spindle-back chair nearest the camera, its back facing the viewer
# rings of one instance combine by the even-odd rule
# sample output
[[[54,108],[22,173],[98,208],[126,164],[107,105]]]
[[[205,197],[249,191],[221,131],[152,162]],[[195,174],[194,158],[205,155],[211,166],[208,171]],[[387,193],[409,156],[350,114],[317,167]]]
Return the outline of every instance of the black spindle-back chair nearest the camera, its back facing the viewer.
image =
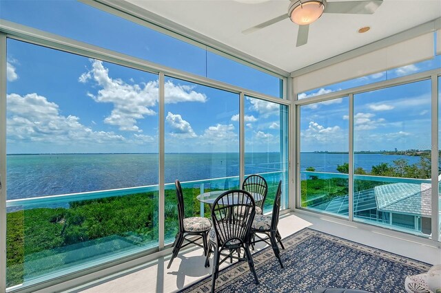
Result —
[[[213,273],[212,273],[212,291],[216,285],[218,278],[219,265],[227,259],[238,259],[240,261],[248,261],[249,270],[254,274],[256,284],[258,278],[254,269],[254,262],[249,252],[249,237],[251,225],[253,223],[255,210],[254,199],[247,191],[227,191],[221,194],[212,206],[213,226],[209,231],[209,244],[207,258],[205,259],[205,267],[209,266],[209,255],[211,249],[214,250]],[[236,217],[235,208],[243,210],[241,217]],[[240,249],[245,250],[245,257],[240,257]],[[221,254],[223,250],[228,253]],[[237,256],[234,255],[237,253]],[[220,260],[220,256],[225,257]]]

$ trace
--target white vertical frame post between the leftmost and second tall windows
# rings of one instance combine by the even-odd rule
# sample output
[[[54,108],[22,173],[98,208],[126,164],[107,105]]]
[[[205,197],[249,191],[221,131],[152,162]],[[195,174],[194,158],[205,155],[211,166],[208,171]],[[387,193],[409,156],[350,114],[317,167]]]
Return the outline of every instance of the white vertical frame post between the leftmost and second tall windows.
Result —
[[[158,102],[158,140],[159,140],[159,202],[158,202],[158,248],[164,248],[165,236],[165,132],[164,132],[164,105],[165,105],[165,91],[164,91],[164,73],[159,72],[159,102]]]

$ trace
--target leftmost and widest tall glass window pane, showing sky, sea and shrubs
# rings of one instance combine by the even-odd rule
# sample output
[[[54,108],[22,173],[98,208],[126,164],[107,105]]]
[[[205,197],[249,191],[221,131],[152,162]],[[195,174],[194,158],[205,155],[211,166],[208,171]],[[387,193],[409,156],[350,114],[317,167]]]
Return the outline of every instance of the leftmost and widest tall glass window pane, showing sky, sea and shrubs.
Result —
[[[158,76],[8,40],[7,284],[157,246]]]

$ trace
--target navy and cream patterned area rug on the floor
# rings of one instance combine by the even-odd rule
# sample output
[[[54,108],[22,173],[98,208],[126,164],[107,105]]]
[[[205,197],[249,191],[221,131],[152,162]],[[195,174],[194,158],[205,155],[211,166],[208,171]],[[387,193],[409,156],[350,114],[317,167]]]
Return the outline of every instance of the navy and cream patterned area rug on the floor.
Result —
[[[320,287],[347,287],[369,292],[406,292],[406,276],[427,272],[431,265],[333,235],[305,228],[283,239],[285,268],[271,248],[253,254],[260,281],[254,283],[245,261],[223,269],[216,292],[313,292]],[[212,263],[212,261],[211,261]],[[211,276],[180,292],[206,293]]]

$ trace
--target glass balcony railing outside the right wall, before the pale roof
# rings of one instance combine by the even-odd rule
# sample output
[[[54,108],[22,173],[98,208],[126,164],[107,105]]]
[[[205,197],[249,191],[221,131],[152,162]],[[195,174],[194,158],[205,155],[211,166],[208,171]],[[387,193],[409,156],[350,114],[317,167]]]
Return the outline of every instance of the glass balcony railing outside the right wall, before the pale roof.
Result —
[[[349,216],[349,175],[301,171],[302,207]],[[431,180],[353,175],[353,219],[422,237],[431,235]]]

